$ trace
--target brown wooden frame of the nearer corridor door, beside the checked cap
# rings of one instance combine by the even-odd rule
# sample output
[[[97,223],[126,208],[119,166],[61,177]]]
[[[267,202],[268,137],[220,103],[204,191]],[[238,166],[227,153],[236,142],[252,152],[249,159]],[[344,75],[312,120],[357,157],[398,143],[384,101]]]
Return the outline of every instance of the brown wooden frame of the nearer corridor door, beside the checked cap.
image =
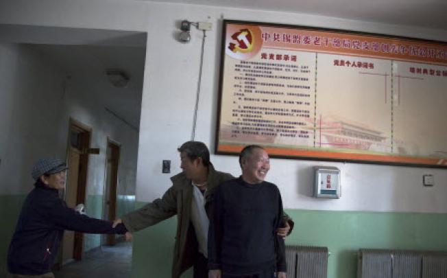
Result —
[[[76,203],[77,204],[85,204],[86,200],[86,187],[87,187],[87,177],[88,177],[88,152],[86,151],[90,148],[91,143],[91,134],[92,128],[90,126],[86,126],[82,124],[80,121],[77,121],[73,118],[70,118],[69,121],[69,134],[71,130],[77,130],[80,132],[80,145],[81,145],[81,154],[80,154],[80,168],[79,174],[77,178],[77,196]],[[70,138],[69,138],[70,140]],[[68,144],[68,147],[70,144]],[[68,149],[67,149],[68,152]],[[82,259],[82,250],[84,243],[84,233],[75,232],[75,242],[73,247],[73,259],[81,260]]]

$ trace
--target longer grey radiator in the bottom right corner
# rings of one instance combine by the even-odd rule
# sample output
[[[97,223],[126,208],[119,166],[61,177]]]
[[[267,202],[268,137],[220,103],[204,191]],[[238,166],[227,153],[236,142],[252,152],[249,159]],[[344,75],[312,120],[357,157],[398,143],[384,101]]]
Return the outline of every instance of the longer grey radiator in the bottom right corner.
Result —
[[[447,278],[447,253],[360,249],[358,278]]]

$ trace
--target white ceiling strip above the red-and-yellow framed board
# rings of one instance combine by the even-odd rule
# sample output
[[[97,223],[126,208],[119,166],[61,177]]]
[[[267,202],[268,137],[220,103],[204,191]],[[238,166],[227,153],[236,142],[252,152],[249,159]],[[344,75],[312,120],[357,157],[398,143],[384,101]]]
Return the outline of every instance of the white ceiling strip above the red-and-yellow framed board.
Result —
[[[447,0],[164,0],[447,30]]]

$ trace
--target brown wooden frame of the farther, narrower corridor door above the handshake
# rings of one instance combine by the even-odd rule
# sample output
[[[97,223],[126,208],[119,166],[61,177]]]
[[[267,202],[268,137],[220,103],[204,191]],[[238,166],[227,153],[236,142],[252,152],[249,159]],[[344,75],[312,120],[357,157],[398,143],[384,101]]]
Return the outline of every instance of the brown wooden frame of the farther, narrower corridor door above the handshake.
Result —
[[[112,176],[110,176],[112,182],[110,183],[110,188],[107,187],[107,170],[108,170],[108,150],[109,146],[111,146],[112,154],[110,156],[112,157],[114,164],[112,165],[112,168],[114,171],[112,172]],[[115,152],[115,153],[113,153]],[[105,178],[104,178],[104,197],[108,196],[110,203],[108,206],[107,216],[106,219],[104,216],[106,214],[106,211],[103,211],[103,219],[104,220],[114,220],[117,218],[117,188],[118,188],[118,172],[119,172],[119,161],[121,158],[121,143],[114,141],[113,139],[110,139],[110,137],[107,137],[107,150],[106,150],[106,171],[104,172]],[[108,195],[106,190],[109,190]],[[108,202],[107,198],[104,198],[104,205],[103,207],[106,208],[106,203]],[[114,245],[115,244],[115,235],[105,235],[106,240],[104,241],[106,245]]]

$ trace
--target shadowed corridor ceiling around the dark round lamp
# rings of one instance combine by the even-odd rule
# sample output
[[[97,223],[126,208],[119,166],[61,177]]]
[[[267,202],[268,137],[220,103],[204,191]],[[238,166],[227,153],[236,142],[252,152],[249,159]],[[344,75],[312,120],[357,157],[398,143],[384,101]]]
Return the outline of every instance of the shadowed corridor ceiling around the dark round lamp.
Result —
[[[106,111],[138,130],[145,66],[145,47],[116,45],[33,45],[56,63],[73,84],[88,84],[88,91]],[[130,77],[128,86],[115,88],[106,69],[120,69]]]

